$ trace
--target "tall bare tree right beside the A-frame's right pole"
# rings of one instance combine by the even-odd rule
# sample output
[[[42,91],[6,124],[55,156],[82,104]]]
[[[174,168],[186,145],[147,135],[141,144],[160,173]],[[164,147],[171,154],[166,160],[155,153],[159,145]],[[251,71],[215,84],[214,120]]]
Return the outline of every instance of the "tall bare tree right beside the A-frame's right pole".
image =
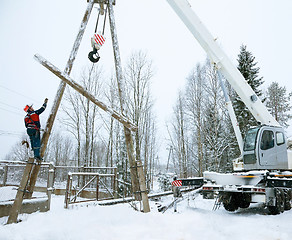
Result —
[[[134,52],[125,67],[127,110],[134,124],[138,126],[135,132],[136,160],[144,163],[144,174],[155,156],[155,118],[153,114],[153,100],[150,94],[150,81],[153,76],[152,62],[142,51]],[[153,171],[151,171],[153,172]]]

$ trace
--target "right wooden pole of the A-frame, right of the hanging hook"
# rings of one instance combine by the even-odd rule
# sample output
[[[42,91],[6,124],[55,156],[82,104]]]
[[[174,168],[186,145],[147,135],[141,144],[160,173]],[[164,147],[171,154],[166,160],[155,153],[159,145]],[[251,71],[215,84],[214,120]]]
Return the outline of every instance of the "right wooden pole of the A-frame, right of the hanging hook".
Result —
[[[111,30],[111,36],[112,36],[113,51],[114,51],[114,59],[115,59],[116,79],[117,79],[119,99],[120,99],[120,105],[121,105],[121,113],[124,114],[124,96],[125,95],[124,95],[124,88],[123,88],[123,73],[122,73],[120,50],[119,50],[119,44],[118,44],[118,38],[117,38],[117,32],[116,32],[113,0],[109,0],[108,12],[109,12],[109,22],[110,22],[110,30]],[[142,202],[143,202],[143,211],[145,213],[150,212],[143,166],[140,160],[138,162],[135,161],[134,145],[133,145],[133,138],[132,138],[131,131],[127,127],[124,127],[124,133],[125,133],[127,153],[128,153],[128,158],[129,158],[129,164],[130,164],[133,192],[141,193]],[[138,169],[137,169],[137,165],[138,165]],[[135,195],[135,197],[136,196],[137,194]]]

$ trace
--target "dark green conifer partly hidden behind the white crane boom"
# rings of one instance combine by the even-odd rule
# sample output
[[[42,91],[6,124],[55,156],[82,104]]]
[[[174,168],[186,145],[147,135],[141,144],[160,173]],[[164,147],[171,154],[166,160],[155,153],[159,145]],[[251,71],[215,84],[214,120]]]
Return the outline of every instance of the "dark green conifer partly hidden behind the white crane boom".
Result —
[[[245,45],[240,47],[240,53],[238,55],[238,70],[241,72],[247,83],[251,86],[258,97],[263,96],[263,92],[260,86],[264,83],[263,78],[259,77],[260,68],[257,67],[257,62],[255,62],[255,57],[246,49]],[[257,121],[252,116],[248,108],[239,98],[239,96],[234,93],[232,94],[232,104],[234,111],[239,123],[240,130],[243,135],[251,126],[256,126]]]

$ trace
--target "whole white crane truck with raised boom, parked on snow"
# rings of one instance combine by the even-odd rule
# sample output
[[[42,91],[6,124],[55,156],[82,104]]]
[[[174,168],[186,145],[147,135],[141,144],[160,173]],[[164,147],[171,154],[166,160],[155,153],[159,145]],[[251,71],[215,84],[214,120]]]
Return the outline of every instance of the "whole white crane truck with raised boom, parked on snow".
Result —
[[[284,129],[232,64],[216,40],[192,10],[187,0],[167,0],[191,31],[220,73],[224,75],[249,111],[260,123],[248,130],[243,143],[241,171],[220,174],[204,172],[203,178],[179,179],[173,185],[202,187],[203,196],[217,196],[227,211],[263,203],[271,214],[290,210],[292,204],[292,155],[287,150]],[[230,114],[237,136],[236,118]],[[236,169],[234,169],[236,170]]]

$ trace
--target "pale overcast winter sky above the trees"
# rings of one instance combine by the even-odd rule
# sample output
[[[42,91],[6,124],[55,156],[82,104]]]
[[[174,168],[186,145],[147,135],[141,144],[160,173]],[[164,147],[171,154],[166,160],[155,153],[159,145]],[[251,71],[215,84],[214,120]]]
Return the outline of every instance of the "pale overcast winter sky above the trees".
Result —
[[[236,64],[240,45],[247,45],[260,67],[265,87],[277,81],[292,91],[291,0],[191,0],[192,8]],[[87,6],[86,0],[0,1],[0,159],[25,132],[23,108],[49,98],[43,126],[60,80],[33,59],[38,53],[64,69]],[[160,129],[172,112],[177,92],[191,69],[206,54],[166,0],[116,0],[115,17],[122,63],[134,50],[153,61],[152,93]],[[92,12],[71,76],[90,64]],[[102,65],[113,72],[109,25],[100,50]],[[161,130],[163,132],[163,130]]]

